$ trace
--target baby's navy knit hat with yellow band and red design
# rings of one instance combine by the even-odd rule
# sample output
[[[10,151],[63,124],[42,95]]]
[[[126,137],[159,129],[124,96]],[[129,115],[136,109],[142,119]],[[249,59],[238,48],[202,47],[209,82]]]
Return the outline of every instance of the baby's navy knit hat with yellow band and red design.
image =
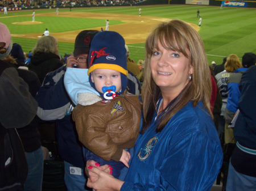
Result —
[[[89,81],[91,86],[96,89],[93,79],[96,79],[95,75],[92,75],[92,71],[97,69],[109,69],[119,72],[121,77],[121,88],[117,90],[117,94],[122,94],[127,87],[127,60],[125,40],[117,32],[101,32],[98,33],[92,40],[89,52]],[[97,90],[104,99],[106,96],[104,90]]]

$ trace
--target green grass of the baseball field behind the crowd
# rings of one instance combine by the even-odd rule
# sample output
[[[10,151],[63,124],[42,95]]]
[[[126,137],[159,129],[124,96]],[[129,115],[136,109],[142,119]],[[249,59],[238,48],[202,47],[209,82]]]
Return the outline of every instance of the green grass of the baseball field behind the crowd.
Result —
[[[185,22],[198,24],[199,18],[196,18],[197,9],[200,10],[202,16],[202,27],[199,35],[204,41],[205,50],[207,52],[208,63],[215,61],[217,64],[222,63],[222,59],[229,54],[237,54],[242,58],[245,52],[256,53],[256,9],[246,9],[238,7],[220,7],[214,6],[193,6],[193,5],[164,5],[164,6],[142,6],[142,16],[156,16],[159,18],[180,19]],[[94,28],[105,25],[105,18],[102,19],[86,19],[86,12],[111,13],[111,14],[130,14],[138,15],[139,7],[95,7],[95,8],[77,8],[72,12],[81,12],[85,18],[55,17],[55,16],[39,16],[44,12],[55,12],[52,10],[36,10],[36,20],[40,20],[43,24],[20,26],[11,24],[13,22],[21,22],[31,20],[32,11],[9,11],[8,17],[3,18],[0,15],[0,22],[5,23],[11,33],[43,33],[46,27],[51,28],[50,32],[75,31],[79,29]],[[60,9],[60,12],[69,12],[69,9]],[[24,15],[24,16],[19,16]],[[37,16],[38,15],[38,16]],[[16,16],[16,17],[9,17]],[[112,20],[113,24],[122,23],[118,18]],[[139,28],[138,28],[139,30]],[[36,40],[22,39],[13,37],[14,43],[19,43],[25,52],[28,52],[35,45]],[[128,44],[130,49],[130,57],[137,62],[144,58],[144,43]],[[59,52],[71,53],[73,51],[73,43],[59,42]]]

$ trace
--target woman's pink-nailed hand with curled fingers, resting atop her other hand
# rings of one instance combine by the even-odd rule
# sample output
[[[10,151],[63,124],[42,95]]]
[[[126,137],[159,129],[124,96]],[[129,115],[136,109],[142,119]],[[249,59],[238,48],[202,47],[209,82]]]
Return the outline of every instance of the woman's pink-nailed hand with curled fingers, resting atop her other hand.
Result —
[[[85,173],[86,175],[89,177],[88,180],[90,179],[90,181],[94,182],[96,180],[98,180],[98,175],[96,173],[93,173],[92,171],[89,171],[89,167],[96,167],[98,169],[100,169],[101,171],[105,171],[106,173],[109,173],[110,175],[112,174],[112,167],[110,167],[110,165],[102,165],[100,166],[99,163],[95,162],[94,160],[88,160],[86,162],[86,167],[85,167]]]

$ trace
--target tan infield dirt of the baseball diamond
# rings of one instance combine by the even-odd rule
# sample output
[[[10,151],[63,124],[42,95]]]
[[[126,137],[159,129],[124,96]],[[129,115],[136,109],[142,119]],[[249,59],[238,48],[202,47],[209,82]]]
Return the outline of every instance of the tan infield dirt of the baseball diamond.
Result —
[[[28,16],[28,15],[24,15]],[[139,16],[139,15],[125,15],[125,14],[95,14],[90,12],[59,12],[59,15],[56,15],[55,12],[36,14],[36,16],[63,16],[63,17],[72,17],[72,18],[92,18],[92,19],[102,19],[106,18],[110,22],[109,30],[116,31],[120,33],[125,39],[126,44],[135,44],[135,43],[144,43],[148,33],[154,28],[157,24],[162,22],[167,22],[170,19],[157,18],[153,16]],[[111,25],[111,20],[121,20],[122,24]],[[42,22],[18,22],[13,24],[41,24]],[[189,23],[191,24],[191,23]],[[198,31],[198,27],[195,24],[191,24],[193,28]],[[96,29],[100,31],[100,28],[105,30],[105,25],[97,28],[88,28]],[[69,31],[69,32],[51,32],[50,35],[57,38],[58,41],[75,43],[76,36],[79,31]],[[43,33],[43,32],[42,32]],[[14,37],[24,37],[26,39],[38,39],[42,36],[42,33],[26,33],[21,35],[11,34]]]

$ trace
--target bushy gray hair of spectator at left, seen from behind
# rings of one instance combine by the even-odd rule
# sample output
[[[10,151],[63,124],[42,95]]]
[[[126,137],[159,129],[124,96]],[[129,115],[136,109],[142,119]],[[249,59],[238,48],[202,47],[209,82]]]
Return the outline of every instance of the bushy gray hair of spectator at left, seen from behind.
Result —
[[[59,56],[58,51],[58,41],[53,36],[42,36],[36,42],[34,48],[32,49],[32,54],[39,54],[39,53],[53,53]]]

